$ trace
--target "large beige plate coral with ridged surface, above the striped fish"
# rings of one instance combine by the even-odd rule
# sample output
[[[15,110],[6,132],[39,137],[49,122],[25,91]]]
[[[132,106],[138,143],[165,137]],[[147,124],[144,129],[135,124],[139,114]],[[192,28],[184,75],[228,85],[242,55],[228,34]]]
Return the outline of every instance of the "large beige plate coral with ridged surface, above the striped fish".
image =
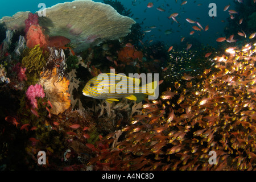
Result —
[[[75,52],[100,44],[103,40],[126,36],[135,23],[109,5],[86,0],[59,3],[46,11],[46,17],[39,18],[40,26],[46,28],[49,36],[64,36],[71,40]],[[93,16],[97,19],[92,22]],[[60,17],[63,18],[61,21]]]

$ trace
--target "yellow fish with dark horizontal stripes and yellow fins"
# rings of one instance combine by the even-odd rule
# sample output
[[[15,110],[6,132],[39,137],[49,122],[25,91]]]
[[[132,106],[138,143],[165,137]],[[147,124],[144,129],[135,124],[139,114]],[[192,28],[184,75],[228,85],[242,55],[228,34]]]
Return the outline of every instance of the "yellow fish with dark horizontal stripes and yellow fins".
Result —
[[[109,103],[119,101],[117,98],[122,97],[138,102],[144,100],[146,96],[155,96],[157,81],[146,84],[142,79],[142,86],[140,83],[139,78],[127,77],[122,73],[101,73],[86,83],[82,94]]]

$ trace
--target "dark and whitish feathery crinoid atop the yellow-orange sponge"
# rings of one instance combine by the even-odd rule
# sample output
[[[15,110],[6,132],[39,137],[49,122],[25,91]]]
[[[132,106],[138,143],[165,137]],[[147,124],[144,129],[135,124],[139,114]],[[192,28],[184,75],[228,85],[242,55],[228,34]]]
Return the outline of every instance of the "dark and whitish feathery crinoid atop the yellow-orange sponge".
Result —
[[[46,63],[46,66],[43,68],[43,72],[41,77],[47,77],[46,80],[51,78],[52,70],[56,68],[58,80],[62,81],[63,77],[68,78],[68,74],[66,73],[67,64],[65,61],[65,54],[63,49],[55,49],[49,47],[49,57]]]

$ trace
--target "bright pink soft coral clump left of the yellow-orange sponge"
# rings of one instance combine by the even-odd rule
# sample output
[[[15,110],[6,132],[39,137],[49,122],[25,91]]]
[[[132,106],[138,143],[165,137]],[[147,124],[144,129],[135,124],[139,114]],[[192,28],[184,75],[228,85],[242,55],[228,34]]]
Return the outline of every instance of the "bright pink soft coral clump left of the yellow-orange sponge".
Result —
[[[46,96],[46,94],[44,93],[44,89],[43,89],[42,85],[35,84],[35,86],[30,85],[28,87],[26,96],[27,96],[28,100],[30,100],[30,104],[34,108],[38,108],[38,101],[36,101],[36,97],[44,98],[44,96]]]

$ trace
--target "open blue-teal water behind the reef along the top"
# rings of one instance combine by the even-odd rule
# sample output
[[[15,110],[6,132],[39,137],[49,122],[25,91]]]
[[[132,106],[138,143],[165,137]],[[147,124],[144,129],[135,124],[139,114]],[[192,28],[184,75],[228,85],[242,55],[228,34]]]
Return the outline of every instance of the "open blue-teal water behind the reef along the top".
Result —
[[[228,11],[223,11],[226,5],[231,5],[229,9],[234,9],[233,0],[192,0],[188,3],[181,6],[181,0],[119,0],[127,9],[131,9],[133,15],[133,19],[136,19],[136,22],[143,23],[141,24],[142,30],[149,30],[150,26],[156,26],[155,29],[152,29],[151,32],[146,33],[145,40],[153,40],[156,42],[157,40],[164,41],[167,46],[171,46],[174,43],[179,43],[181,37],[185,36],[193,36],[200,40],[201,43],[207,45],[215,46],[216,39],[218,37],[224,36],[223,31],[226,26],[226,19],[229,18]],[[46,7],[51,7],[56,5],[57,3],[62,3],[67,1],[55,0],[28,0],[28,1],[1,1],[0,2],[0,17],[2,16],[12,16],[18,11],[31,11],[35,13],[40,8],[38,7],[39,3],[45,3]],[[103,2],[103,1],[95,1],[95,2]],[[154,7],[147,8],[148,2],[154,3]],[[208,11],[210,10],[209,3],[216,3],[217,5],[217,16],[213,19],[208,15]],[[170,6],[167,6],[170,5]],[[197,6],[201,4],[201,6]],[[156,7],[161,7],[166,10],[165,12],[161,12],[156,10]],[[178,27],[179,24],[176,22],[172,23],[172,20],[167,17],[172,13],[179,13],[180,18],[177,18],[177,21],[181,23],[181,26]],[[145,19],[146,18],[146,19]],[[195,31],[194,35],[189,35],[189,32],[193,31],[192,26],[195,24],[188,23],[185,19],[189,18],[192,20],[197,20],[201,23],[203,27],[209,24],[208,31]],[[143,20],[144,19],[144,20]],[[225,22],[221,22],[221,20],[225,20]],[[166,30],[172,30],[172,34],[164,34]],[[104,30],[102,30],[104,31]],[[179,32],[177,32],[179,31]]]

